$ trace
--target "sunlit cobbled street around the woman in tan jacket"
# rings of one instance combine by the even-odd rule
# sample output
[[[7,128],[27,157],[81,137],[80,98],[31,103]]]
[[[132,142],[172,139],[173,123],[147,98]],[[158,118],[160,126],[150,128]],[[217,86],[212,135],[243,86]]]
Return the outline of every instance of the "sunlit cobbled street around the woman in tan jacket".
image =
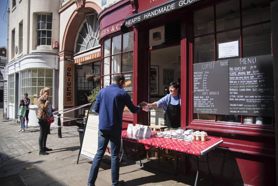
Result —
[[[1,112],[2,110],[2,112]],[[0,115],[3,109],[0,109]],[[14,120],[3,120],[0,117],[0,164],[14,158],[39,150],[39,126],[28,127],[25,132],[18,132],[20,124]],[[59,144],[67,144],[68,140],[79,139],[79,134],[74,128],[62,128],[62,138],[58,138],[57,128],[50,127],[46,146],[51,148]],[[63,140],[68,138],[68,140]]]

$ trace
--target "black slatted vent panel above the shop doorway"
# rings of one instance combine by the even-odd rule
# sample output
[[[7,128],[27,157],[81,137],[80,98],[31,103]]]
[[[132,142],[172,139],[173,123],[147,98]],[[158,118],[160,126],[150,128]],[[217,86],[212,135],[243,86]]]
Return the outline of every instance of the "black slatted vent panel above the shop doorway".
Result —
[[[165,43],[180,40],[180,20],[165,24]]]

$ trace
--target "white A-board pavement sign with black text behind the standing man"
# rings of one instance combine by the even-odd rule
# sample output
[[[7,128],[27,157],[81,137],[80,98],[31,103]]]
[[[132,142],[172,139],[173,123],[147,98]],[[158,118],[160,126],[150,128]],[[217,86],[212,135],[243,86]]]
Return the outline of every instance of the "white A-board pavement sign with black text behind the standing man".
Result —
[[[91,160],[98,150],[98,113],[94,111],[95,104],[91,104],[84,128],[80,155]]]

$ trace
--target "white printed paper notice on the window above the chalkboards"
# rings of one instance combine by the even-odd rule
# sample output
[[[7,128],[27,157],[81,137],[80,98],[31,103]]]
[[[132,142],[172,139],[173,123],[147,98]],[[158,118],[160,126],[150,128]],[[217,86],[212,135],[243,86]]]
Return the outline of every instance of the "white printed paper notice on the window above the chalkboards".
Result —
[[[218,44],[218,58],[238,56],[238,41]]]

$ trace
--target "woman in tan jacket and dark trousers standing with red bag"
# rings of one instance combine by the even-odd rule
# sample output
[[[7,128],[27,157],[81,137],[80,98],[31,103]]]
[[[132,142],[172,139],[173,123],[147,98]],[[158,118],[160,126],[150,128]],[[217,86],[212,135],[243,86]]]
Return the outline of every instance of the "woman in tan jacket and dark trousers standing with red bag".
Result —
[[[46,147],[46,140],[47,140],[47,134],[50,130],[50,125],[47,125],[45,118],[50,118],[52,116],[52,112],[56,109],[52,109],[49,95],[50,95],[50,88],[45,87],[41,89],[40,92],[41,97],[38,99],[38,123],[40,126],[40,136],[39,136],[39,155],[47,155],[48,153],[46,151],[52,151],[52,149],[49,149]]]

